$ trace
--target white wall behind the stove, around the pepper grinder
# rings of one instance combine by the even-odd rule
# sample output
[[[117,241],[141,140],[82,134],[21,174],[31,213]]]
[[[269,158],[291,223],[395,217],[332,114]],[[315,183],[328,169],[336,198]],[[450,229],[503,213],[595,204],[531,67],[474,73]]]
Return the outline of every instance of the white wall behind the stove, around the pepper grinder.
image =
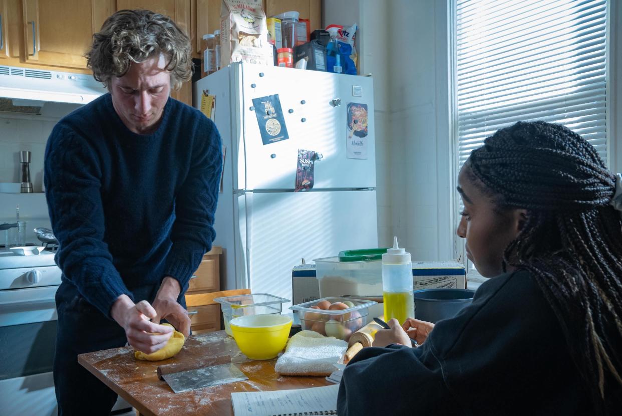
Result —
[[[35,116],[24,118],[0,117],[0,182],[20,182],[19,151],[32,152],[30,162],[30,180],[34,194],[0,194],[0,224],[15,222],[16,206],[19,204],[20,219],[26,221],[26,242],[37,242],[32,229],[50,227],[50,220],[45,203],[45,194],[41,191],[45,143],[58,120],[37,120]],[[4,235],[0,235],[4,243]]]

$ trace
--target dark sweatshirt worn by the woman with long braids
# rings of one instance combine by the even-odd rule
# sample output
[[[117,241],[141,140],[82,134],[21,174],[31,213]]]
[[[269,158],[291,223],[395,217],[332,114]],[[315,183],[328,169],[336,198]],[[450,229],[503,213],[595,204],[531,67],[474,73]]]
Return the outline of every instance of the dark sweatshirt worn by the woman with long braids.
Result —
[[[611,409],[622,409],[622,389]],[[591,415],[559,321],[528,272],[480,286],[419,348],[360,351],[343,373],[340,415]]]

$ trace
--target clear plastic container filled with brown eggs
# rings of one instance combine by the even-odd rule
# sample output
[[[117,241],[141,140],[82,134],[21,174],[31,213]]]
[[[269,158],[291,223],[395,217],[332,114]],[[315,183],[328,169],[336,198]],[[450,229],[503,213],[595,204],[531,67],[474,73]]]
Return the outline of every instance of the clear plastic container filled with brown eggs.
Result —
[[[345,297],[328,297],[290,306],[297,311],[302,329],[348,341],[350,336],[365,326],[369,306],[376,301]]]

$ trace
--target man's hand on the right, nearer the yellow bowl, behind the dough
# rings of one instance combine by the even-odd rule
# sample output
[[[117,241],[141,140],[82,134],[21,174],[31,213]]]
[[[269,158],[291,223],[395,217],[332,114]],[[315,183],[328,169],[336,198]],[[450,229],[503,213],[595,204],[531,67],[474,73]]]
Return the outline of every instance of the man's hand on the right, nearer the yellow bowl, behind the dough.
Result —
[[[188,338],[188,335],[190,335],[188,311],[177,303],[177,296],[179,296],[181,290],[179,281],[172,277],[165,277],[154,300],[153,306],[156,314],[151,320],[159,324],[162,319],[166,319],[172,326],[177,328],[177,331]]]

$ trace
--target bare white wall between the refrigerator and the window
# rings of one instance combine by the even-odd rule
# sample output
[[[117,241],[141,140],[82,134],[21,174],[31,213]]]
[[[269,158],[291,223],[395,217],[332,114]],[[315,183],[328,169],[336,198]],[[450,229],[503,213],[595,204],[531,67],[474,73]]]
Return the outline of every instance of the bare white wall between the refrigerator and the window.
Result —
[[[453,257],[447,0],[325,0],[323,23],[357,22],[373,74],[378,243],[415,260]]]

